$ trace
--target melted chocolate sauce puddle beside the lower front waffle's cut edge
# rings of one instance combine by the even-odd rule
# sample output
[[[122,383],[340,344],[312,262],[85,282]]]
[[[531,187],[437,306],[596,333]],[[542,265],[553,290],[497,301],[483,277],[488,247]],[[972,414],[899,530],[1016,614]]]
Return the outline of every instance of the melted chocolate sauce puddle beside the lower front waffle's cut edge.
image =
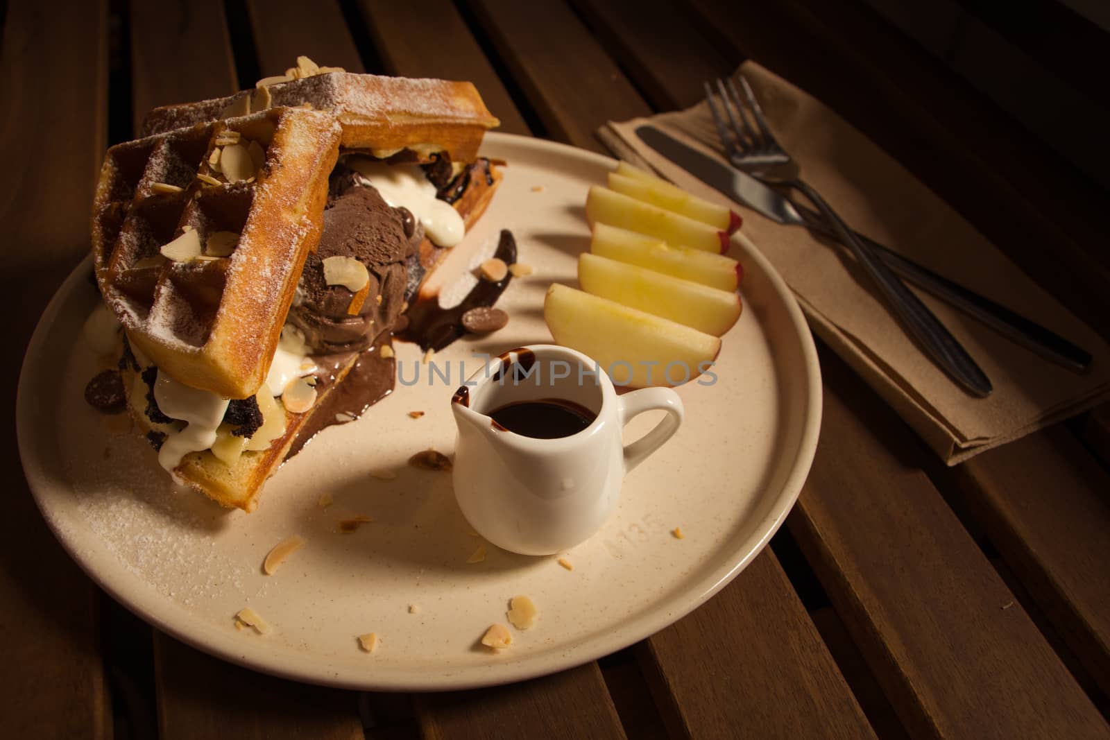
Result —
[[[314,357],[319,366],[325,369],[323,377],[316,385],[317,392],[323,392],[335,384],[335,374],[351,358],[351,355],[329,355],[326,357]],[[293,439],[285,459],[296,455],[309,444],[321,430],[333,424],[346,424],[335,418],[337,414],[346,414],[352,419],[356,419],[362,414],[376,404],[379,401],[393,392],[393,383],[396,377],[396,364],[393,357],[383,357],[381,345],[373,344],[370,348],[359,353],[359,358],[354,367],[347,373],[339,387],[332,389],[330,394],[313,409],[307,424],[297,433]]]

